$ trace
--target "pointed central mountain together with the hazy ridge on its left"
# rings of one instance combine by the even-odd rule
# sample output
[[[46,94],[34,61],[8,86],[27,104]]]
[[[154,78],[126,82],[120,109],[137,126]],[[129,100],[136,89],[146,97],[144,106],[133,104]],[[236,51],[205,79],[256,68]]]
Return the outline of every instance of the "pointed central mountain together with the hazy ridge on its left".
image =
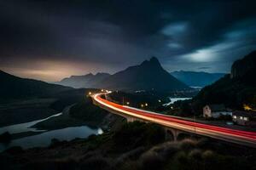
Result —
[[[143,61],[140,65],[130,66],[124,71],[119,71],[113,75],[98,73],[96,75],[72,76],[64,78],[57,83],[73,88],[107,88],[125,91],[153,89],[157,91],[172,91],[189,88],[165,71],[155,57]]]

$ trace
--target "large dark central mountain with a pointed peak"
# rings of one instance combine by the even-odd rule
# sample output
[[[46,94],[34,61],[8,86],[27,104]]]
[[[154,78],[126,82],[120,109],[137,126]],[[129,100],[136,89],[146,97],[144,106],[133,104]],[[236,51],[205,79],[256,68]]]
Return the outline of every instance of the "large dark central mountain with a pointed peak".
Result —
[[[130,66],[96,85],[97,88],[115,90],[157,90],[172,91],[189,88],[183,82],[165,71],[155,57],[143,61],[141,65]]]

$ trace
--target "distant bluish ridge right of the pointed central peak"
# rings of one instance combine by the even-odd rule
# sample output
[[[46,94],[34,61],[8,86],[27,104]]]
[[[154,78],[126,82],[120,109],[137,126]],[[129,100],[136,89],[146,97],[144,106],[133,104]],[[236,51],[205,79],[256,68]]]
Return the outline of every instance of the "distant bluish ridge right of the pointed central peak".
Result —
[[[173,71],[171,74],[177,80],[184,82],[190,87],[205,87],[225,75],[224,73],[208,73],[202,71]]]

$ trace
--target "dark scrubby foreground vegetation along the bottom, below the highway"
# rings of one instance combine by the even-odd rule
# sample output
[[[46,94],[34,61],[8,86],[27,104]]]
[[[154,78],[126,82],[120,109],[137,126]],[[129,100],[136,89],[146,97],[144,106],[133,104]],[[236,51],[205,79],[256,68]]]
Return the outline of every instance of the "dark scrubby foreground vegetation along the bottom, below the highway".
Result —
[[[117,131],[48,148],[11,148],[0,154],[3,169],[203,170],[255,169],[252,148],[212,139],[166,141],[162,127],[125,123]]]

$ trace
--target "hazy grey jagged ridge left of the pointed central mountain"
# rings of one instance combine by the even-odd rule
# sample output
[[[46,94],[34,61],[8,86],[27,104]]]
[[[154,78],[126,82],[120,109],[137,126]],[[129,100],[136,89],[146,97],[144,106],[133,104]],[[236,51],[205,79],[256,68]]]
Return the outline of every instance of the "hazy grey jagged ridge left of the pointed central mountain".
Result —
[[[87,74],[84,76],[71,76],[64,78],[61,82],[55,82],[63,86],[69,86],[73,88],[94,88],[95,84],[101,82],[103,79],[109,77],[108,73],[99,72],[96,75]]]

